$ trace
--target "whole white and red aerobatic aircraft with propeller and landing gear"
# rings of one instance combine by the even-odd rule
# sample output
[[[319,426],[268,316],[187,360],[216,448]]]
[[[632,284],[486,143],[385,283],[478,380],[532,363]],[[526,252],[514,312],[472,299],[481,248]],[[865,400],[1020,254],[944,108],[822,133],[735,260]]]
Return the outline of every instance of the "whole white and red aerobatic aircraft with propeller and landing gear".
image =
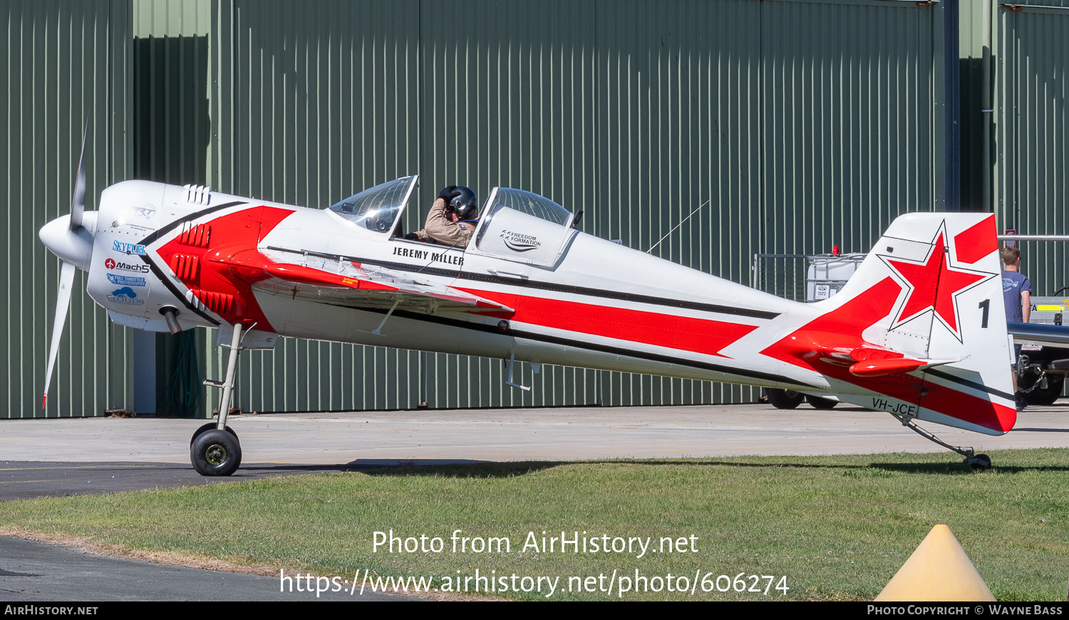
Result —
[[[77,267],[115,323],[219,328],[220,416],[190,446],[205,476],[241,464],[238,351],[280,336],[501,358],[521,388],[515,360],[793,390],[936,441],[914,420],[1000,435],[1017,419],[993,215],[903,215],[841,292],[802,304],[582,233],[517,189],[491,191],[467,248],[405,241],[416,180],[328,210],[126,181],[86,212],[79,165],[72,214],[41,230],[63,260],[45,394]]]

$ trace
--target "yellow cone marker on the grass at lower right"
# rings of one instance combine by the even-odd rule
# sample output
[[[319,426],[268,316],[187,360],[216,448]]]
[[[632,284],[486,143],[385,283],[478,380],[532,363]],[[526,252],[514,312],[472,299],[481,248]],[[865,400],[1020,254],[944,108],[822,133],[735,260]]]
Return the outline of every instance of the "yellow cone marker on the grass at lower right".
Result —
[[[877,601],[994,601],[950,528],[936,525]]]

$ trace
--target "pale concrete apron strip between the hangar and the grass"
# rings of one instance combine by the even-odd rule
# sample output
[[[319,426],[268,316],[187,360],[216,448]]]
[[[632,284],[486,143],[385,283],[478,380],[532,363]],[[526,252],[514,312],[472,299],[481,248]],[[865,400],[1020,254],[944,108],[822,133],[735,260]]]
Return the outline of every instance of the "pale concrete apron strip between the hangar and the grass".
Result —
[[[7,462],[188,465],[189,438],[203,422],[0,420],[0,455]],[[249,471],[253,464],[365,467],[453,461],[945,451],[887,414],[841,405],[830,410],[807,404],[781,410],[762,404],[269,414],[235,416],[229,423],[241,438],[241,470]],[[978,451],[1069,447],[1069,399],[1026,408],[1016,429],[1002,436],[921,425],[950,444]]]

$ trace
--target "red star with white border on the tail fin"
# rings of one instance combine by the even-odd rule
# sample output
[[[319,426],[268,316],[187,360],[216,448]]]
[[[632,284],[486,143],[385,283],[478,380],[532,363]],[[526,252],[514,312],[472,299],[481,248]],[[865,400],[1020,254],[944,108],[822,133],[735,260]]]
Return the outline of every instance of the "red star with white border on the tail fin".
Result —
[[[902,310],[895,320],[895,327],[907,321],[932,310],[935,316],[947,326],[960,340],[958,335],[957,295],[990,277],[990,274],[978,274],[952,268],[950,253],[944,241],[945,231],[941,227],[932,242],[932,250],[924,263],[908,263],[884,260],[898,273],[910,288],[909,297]]]

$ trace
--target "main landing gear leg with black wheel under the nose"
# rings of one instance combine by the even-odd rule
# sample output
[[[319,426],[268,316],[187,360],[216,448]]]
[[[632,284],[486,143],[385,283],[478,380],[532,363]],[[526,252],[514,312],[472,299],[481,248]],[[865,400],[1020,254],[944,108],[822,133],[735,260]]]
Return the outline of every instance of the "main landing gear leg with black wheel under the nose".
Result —
[[[230,340],[230,360],[227,362],[227,379],[223,383],[205,381],[205,385],[222,388],[219,402],[219,420],[208,422],[193,433],[189,441],[189,460],[201,476],[230,476],[242,464],[242,445],[237,433],[227,425],[230,399],[237,373],[237,354],[242,348],[242,324],[234,324]]]

